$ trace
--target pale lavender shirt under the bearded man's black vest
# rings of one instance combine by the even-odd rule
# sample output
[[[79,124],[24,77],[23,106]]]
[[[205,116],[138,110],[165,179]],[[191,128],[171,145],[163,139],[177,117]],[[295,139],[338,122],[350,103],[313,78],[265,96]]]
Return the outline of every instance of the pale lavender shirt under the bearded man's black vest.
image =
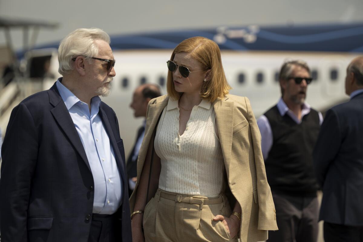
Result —
[[[310,105],[307,103],[304,103],[302,105],[301,110],[301,119],[299,119],[293,111],[287,107],[286,103],[282,98],[277,103],[277,109],[280,112],[281,116],[284,116],[285,114],[289,115],[291,119],[293,119],[297,124],[301,123],[301,120],[303,116],[309,114],[310,112]],[[319,122],[320,125],[323,123],[323,115],[321,112],[319,113]],[[272,129],[269,120],[265,115],[261,115],[260,118],[257,119],[257,126],[260,129],[261,132],[261,150],[262,150],[262,156],[264,157],[264,160],[267,159],[270,149],[272,147],[273,143],[273,137],[272,137]]]

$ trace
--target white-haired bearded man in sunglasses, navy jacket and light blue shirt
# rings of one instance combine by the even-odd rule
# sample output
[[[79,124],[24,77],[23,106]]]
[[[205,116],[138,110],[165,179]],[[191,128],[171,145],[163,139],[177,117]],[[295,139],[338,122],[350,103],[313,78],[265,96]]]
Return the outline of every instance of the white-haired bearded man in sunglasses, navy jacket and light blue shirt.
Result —
[[[0,179],[1,241],[131,241],[125,153],[99,95],[115,76],[110,37],[77,29],[60,43],[47,91],[12,111]]]

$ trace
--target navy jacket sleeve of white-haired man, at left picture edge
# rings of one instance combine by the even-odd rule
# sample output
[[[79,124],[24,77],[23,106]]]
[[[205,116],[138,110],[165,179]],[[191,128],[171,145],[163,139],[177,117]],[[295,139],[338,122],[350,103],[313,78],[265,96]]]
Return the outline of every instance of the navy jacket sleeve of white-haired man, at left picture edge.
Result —
[[[27,240],[27,209],[37,161],[34,120],[24,103],[11,113],[2,147],[0,179],[1,241]]]

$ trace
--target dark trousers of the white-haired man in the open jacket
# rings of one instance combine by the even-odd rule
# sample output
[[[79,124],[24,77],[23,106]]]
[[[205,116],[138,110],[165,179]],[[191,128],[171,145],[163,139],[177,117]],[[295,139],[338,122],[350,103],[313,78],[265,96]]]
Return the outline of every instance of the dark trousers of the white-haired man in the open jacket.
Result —
[[[88,242],[119,242],[121,227],[117,228],[117,216],[93,214]]]

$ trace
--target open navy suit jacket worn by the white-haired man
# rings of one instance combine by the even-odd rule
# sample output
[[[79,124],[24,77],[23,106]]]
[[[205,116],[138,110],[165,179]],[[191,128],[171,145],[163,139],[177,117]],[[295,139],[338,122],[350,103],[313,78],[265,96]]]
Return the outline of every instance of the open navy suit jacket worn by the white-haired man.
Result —
[[[114,111],[101,102],[103,125],[123,181],[117,223],[131,241],[125,152]],[[94,181],[81,139],[56,85],[16,106],[2,148],[1,242],[87,242]]]

